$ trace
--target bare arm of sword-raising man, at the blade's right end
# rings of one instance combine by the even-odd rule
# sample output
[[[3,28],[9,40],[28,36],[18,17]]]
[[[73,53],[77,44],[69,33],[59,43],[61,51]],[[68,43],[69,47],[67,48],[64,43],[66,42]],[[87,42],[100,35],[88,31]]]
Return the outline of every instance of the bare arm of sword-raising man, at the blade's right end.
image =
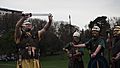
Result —
[[[51,23],[52,23],[52,15],[48,16],[49,22],[45,24],[45,26],[38,31],[38,37],[41,39],[41,36],[49,29]]]

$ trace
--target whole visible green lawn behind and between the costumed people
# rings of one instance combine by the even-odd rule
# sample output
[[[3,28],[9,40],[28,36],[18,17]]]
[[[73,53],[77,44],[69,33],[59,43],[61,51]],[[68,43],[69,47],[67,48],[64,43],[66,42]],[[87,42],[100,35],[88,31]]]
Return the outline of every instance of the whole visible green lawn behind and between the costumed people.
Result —
[[[88,53],[85,50],[85,55],[83,57],[85,68],[87,68],[87,64],[88,64],[87,54]],[[66,55],[46,56],[46,57],[41,57],[40,62],[42,64],[42,68],[67,68],[68,58],[66,57]],[[0,68],[16,68],[16,62],[0,61]]]

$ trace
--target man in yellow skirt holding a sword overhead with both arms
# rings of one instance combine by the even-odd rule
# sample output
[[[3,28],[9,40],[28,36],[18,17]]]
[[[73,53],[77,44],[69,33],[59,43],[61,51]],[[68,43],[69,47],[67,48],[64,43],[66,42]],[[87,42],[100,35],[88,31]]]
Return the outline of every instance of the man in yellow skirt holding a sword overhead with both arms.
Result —
[[[49,15],[49,22],[41,30],[36,31],[32,23],[26,21],[29,17],[30,14],[22,15],[15,27],[15,42],[18,49],[17,68],[41,68],[38,45],[52,23],[52,15]]]

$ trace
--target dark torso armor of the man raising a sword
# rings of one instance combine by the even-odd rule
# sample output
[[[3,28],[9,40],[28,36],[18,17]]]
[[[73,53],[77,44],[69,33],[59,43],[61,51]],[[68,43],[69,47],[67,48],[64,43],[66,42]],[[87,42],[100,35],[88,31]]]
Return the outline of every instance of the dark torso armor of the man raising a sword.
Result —
[[[17,44],[22,59],[38,59],[38,33],[37,31],[22,31],[20,43]]]

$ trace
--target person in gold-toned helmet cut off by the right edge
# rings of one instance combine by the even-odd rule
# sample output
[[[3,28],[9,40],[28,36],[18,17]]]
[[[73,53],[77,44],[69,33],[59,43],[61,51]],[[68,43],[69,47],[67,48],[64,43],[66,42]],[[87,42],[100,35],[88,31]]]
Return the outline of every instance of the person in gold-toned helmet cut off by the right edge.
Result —
[[[112,68],[120,68],[120,25],[113,29]]]

